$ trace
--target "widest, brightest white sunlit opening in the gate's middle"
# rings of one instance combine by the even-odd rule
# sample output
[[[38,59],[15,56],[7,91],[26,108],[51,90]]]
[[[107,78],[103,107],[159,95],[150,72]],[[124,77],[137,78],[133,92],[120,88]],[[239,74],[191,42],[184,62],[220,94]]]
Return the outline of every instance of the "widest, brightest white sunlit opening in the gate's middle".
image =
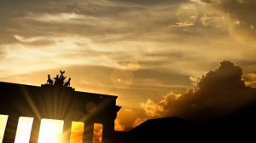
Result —
[[[38,143],[61,143],[63,124],[61,120],[42,119]]]

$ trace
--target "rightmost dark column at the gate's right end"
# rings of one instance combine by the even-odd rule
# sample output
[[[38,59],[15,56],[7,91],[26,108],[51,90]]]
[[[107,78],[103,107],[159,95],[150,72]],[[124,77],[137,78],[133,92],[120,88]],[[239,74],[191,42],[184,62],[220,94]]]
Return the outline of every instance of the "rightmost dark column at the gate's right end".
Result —
[[[114,143],[114,119],[103,123],[102,143]]]

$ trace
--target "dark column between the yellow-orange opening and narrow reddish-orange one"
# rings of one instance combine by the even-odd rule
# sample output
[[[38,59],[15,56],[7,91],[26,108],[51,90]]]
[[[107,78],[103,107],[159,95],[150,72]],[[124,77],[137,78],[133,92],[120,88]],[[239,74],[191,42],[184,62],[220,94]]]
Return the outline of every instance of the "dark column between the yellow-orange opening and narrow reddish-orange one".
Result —
[[[93,143],[94,123],[84,123],[84,143]]]

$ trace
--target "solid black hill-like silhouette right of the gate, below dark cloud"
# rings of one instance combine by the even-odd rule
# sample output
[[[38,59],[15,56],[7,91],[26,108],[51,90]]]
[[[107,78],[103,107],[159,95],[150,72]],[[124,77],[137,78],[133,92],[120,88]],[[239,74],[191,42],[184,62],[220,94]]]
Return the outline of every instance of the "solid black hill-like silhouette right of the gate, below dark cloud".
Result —
[[[150,119],[135,129],[115,134],[118,143],[255,142],[256,103],[215,117]]]

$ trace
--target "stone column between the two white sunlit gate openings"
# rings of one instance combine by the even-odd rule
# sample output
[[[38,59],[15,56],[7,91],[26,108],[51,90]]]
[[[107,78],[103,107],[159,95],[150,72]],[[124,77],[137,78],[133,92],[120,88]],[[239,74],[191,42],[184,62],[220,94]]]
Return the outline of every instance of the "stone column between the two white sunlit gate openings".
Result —
[[[32,130],[30,134],[30,141],[29,141],[30,143],[38,143],[40,123],[41,123],[41,119],[34,117],[33,123],[32,123]]]

